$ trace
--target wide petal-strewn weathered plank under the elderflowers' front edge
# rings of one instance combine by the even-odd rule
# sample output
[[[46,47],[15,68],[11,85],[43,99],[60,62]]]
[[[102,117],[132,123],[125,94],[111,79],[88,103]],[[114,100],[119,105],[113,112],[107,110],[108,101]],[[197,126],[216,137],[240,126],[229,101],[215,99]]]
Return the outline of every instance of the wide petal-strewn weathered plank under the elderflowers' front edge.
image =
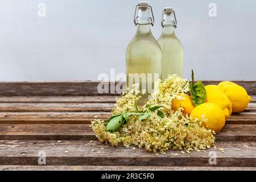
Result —
[[[38,165],[39,151],[46,153],[48,166],[213,166],[209,151],[215,151],[216,167],[256,167],[255,142],[218,142],[205,152],[181,154],[168,151],[156,156],[135,147],[112,147],[97,141],[0,141],[0,165]],[[103,150],[102,150],[103,149]],[[94,151],[93,151],[94,150]],[[178,153],[178,156],[172,155]]]

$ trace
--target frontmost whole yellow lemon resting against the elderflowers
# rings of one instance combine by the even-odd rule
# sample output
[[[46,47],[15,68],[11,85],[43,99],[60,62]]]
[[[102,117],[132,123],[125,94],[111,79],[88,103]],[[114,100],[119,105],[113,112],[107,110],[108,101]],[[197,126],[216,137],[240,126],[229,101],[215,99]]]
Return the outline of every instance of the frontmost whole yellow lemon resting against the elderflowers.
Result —
[[[214,130],[215,133],[224,127],[226,121],[221,107],[210,102],[196,106],[190,117],[199,119],[205,128]]]

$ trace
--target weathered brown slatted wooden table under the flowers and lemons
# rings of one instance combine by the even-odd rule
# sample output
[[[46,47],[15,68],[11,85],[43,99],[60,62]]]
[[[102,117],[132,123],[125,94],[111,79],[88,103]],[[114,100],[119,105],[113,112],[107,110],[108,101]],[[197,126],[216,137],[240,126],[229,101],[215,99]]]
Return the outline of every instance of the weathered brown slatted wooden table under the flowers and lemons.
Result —
[[[217,84],[218,81],[204,81]],[[256,81],[236,81],[252,96],[216,135],[217,147],[156,156],[143,148],[98,142],[89,124],[94,115],[110,117],[117,94],[97,92],[98,82],[1,82],[0,169],[68,170],[243,170],[256,169]],[[209,151],[217,164],[209,164]],[[46,165],[40,166],[40,154]],[[178,153],[178,156],[172,153]]]

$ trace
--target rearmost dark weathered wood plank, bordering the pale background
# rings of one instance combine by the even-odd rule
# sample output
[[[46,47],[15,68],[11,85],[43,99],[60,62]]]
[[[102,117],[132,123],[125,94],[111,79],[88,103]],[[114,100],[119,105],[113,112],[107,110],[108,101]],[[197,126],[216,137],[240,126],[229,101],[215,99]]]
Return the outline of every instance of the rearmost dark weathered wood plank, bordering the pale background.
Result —
[[[220,81],[203,81],[205,85],[218,84]],[[234,81],[243,86],[251,95],[256,95],[256,81]],[[97,96],[98,81],[81,82],[0,82],[0,96]],[[117,82],[109,82],[110,88]],[[123,84],[125,85],[125,84]]]

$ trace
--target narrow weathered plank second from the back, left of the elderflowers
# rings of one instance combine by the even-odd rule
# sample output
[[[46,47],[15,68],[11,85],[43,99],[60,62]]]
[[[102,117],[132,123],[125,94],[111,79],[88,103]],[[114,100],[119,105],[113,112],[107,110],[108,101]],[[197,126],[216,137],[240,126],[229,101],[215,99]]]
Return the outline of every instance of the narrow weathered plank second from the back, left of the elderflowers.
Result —
[[[114,103],[117,96],[12,96],[0,103]]]

